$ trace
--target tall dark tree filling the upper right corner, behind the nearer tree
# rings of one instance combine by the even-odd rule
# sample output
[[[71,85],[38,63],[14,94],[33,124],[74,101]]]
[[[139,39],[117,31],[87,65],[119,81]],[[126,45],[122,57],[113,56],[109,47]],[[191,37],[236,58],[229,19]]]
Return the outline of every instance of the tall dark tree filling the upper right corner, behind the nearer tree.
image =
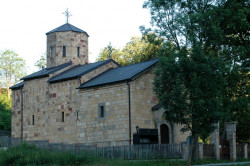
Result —
[[[249,2],[148,0],[144,8],[150,9],[154,31],[174,43],[177,52],[184,49],[192,59],[193,51],[199,48],[202,55],[216,58],[221,64],[222,68],[217,70],[224,73],[227,83],[221,99],[221,113],[226,117],[223,121],[246,112],[249,103],[249,73],[245,72],[249,72]],[[175,60],[179,58],[177,55]],[[237,109],[235,103],[241,103],[237,104]]]

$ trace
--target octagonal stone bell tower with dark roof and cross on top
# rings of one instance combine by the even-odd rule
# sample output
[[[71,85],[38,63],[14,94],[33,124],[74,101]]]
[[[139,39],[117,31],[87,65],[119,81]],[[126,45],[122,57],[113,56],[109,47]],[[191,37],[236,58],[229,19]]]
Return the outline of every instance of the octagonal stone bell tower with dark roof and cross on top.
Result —
[[[54,67],[69,61],[74,65],[88,63],[87,32],[68,23],[71,16],[68,9],[64,13],[67,23],[46,33],[47,67]]]

